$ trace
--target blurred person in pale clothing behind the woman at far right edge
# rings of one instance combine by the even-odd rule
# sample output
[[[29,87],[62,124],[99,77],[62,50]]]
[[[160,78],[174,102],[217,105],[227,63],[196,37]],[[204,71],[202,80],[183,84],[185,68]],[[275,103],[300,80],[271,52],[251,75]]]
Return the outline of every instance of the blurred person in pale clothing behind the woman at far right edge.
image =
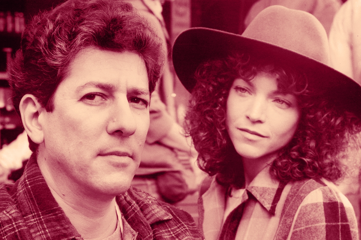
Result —
[[[361,0],[347,0],[341,6],[332,22],[329,44],[332,67],[361,84]],[[360,154],[356,151],[351,157],[360,158]],[[354,166],[353,171],[360,172],[360,167]],[[360,177],[359,173],[357,177],[346,178],[340,185],[340,190],[350,199],[355,209],[359,229]]]

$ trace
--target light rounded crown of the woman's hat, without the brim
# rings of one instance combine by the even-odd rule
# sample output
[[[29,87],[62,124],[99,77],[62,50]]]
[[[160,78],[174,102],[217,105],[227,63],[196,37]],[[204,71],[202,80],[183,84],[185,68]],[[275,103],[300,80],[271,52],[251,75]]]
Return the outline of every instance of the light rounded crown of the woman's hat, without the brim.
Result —
[[[312,14],[283,6],[264,9],[242,34],[329,65],[327,33]]]

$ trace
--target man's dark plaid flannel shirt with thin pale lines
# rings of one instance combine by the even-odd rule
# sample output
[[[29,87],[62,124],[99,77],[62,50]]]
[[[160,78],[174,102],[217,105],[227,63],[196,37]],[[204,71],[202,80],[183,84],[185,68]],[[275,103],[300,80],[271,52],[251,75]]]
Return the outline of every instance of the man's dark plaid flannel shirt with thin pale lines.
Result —
[[[136,239],[203,239],[188,213],[140,190],[130,188],[116,201]],[[0,187],[0,238],[82,239],[53,198],[33,156],[15,184]]]

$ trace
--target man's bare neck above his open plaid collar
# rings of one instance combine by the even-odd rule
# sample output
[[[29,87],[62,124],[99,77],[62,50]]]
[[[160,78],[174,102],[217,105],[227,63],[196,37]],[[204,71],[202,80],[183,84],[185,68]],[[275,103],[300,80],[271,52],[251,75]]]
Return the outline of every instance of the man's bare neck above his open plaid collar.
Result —
[[[83,239],[100,240],[113,234],[118,222],[115,196],[101,198],[85,187],[77,189],[71,180],[54,179],[41,161],[38,164],[53,197]]]

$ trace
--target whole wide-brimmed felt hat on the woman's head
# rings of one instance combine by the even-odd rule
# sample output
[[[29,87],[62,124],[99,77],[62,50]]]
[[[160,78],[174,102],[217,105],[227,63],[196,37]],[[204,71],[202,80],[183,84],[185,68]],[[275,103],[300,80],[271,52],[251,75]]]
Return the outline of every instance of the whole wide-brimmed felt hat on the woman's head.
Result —
[[[174,69],[191,92],[201,63],[234,51],[297,66],[309,77],[309,84],[326,92],[333,103],[361,116],[361,86],[330,67],[327,33],[312,14],[274,5],[262,10],[242,35],[190,28],[174,42]]]

